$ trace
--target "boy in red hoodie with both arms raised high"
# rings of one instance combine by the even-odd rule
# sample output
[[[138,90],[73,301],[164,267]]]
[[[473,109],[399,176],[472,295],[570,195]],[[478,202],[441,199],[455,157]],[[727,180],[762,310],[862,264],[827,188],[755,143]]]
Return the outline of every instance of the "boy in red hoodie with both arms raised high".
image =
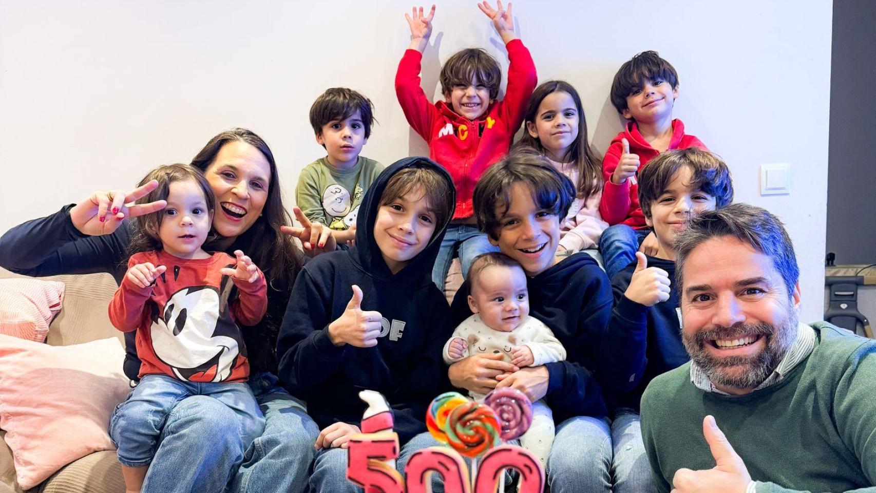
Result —
[[[444,63],[441,84],[444,101],[429,102],[420,88],[420,61],[432,33],[434,5],[427,16],[423,9],[405,14],[411,28],[411,45],[399,63],[395,91],[407,122],[429,145],[429,157],[448,170],[456,187],[456,213],[435,260],[432,279],[443,291],[444,279],[455,254],[463,277],[475,257],[496,251],[487,236],[477,229],[471,194],[481,174],[505,157],[514,133],[520,128],[526,102],[537,82],[529,50],[514,34],[511,4],[508,10],[478,4],[491,18],[508,50],[508,86],[505,99],[498,98],[502,71],[485,50],[467,48]]]

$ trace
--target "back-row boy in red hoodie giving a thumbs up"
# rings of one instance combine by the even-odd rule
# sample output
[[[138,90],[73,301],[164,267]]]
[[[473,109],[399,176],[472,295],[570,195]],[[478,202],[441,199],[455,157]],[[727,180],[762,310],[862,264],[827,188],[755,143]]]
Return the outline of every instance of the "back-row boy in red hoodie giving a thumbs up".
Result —
[[[635,261],[639,243],[646,255],[657,250],[639,207],[639,169],[662,151],[689,147],[708,151],[700,139],[684,133],[681,120],[673,119],[677,97],[678,74],[657,52],[632,57],[611,82],[611,104],[631,121],[611,141],[603,160],[605,185],[599,213],[612,226],[604,230],[599,250],[609,278]]]

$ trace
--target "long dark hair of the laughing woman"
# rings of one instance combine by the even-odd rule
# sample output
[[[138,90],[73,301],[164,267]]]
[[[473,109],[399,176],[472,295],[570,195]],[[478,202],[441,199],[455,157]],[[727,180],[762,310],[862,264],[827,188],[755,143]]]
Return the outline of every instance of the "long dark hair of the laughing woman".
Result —
[[[304,252],[293,242],[292,238],[280,231],[280,226],[291,226],[292,218],[283,207],[280,194],[277,162],[268,144],[252,130],[234,128],[225,130],[211,138],[204,148],[192,159],[192,166],[206,173],[208,166],[213,164],[216,155],[223,145],[230,142],[245,142],[252,145],[265,156],[271,167],[271,183],[262,215],[253,222],[235,241],[235,248],[244,250],[252,262],[265,273],[268,285],[279,292],[289,292],[292,289],[295,276],[304,263]],[[219,237],[221,241],[222,237]],[[207,248],[205,247],[205,250]],[[215,249],[214,249],[215,250]]]

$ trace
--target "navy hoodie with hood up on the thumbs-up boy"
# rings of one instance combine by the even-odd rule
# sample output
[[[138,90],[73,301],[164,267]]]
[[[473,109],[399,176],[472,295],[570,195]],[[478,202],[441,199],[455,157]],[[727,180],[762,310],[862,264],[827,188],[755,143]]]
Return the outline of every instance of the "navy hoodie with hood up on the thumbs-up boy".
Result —
[[[384,394],[399,440],[406,442],[426,431],[426,407],[449,385],[442,348],[453,326],[431,272],[452,214],[396,274],[386,266],[373,235],[387,182],[411,166],[434,169],[453,190],[450,175],[428,158],[405,158],[387,167],[359,208],[356,246],[314,258],[295,280],[277,344],[279,377],[307,401],[307,414],[321,428],[339,421],[358,425],[366,407],[358,392],[367,389]],[[454,202],[451,197],[449,203]],[[372,348],[338,347],[329,339],[329,323],[343,314],[352,285],[362,289],[362,309],[384,318],[384,330]]]

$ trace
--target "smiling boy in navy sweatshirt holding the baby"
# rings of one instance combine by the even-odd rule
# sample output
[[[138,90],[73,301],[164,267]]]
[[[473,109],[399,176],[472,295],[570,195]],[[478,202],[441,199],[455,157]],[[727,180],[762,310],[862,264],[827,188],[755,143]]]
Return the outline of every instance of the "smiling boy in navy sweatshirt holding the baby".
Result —
[[[478,227],[526,272],[530,314],[562,342],[566,361],[521,369],[492,356],[470,356],[449,370],[451,382],[469,391],[512,386],[533,401],[545,398],[557,424],[548,455],[555,493],[597,490],[611,462],[611,455],[607,462],[604,457],[609,429],[594,373],[611,316],[611,286],[590,255],[555,256],[560,221],[574,197],[572,182],[529,152],[512,153],[491,166],[474,192]],[[464,283],[451,306],[454,324],[471,314],[468,295]]]

